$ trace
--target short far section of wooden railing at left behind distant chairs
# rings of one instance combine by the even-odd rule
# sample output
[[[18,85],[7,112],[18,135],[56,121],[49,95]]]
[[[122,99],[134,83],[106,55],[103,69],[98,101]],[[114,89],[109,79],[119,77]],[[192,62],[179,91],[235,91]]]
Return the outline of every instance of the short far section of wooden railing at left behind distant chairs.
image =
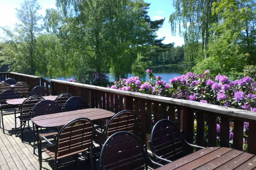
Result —
[[[20,74],[14,72],[2,72],[0,73],[1,77],[4,78],[14,78],[17,82],[26,82],[29,85],[29,91],[31,91],[35,86],[42,85],[49,89],[51,83],[44,79],[43,77],[31,76],[27,74]]]

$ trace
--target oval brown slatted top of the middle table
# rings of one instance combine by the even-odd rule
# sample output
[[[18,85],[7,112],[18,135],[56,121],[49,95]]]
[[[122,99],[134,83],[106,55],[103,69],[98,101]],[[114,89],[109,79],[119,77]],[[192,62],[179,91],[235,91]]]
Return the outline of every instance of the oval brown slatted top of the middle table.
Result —
[[[88,119],[100,120],[114,116],[115,113],[104,109],[83,109],[79,111],[68,111],[54,113],[32,118],[32,122],[38,127],[62,127],[73,119],[87,117]]]

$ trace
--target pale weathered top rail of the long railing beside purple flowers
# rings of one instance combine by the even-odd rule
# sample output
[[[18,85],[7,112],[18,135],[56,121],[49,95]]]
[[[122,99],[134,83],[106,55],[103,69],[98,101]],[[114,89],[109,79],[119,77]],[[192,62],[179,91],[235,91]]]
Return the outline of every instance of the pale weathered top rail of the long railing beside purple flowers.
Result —
[[[194,109],[198,109],[198,110],[202,110],[202,111],[224,114],[224,115],[228,115],[228,116],[235,116],[235,117],[241,117],[244,119],[256,120],[256,113],[252,112],[252,111],[245,111],[245,110],[236,109],[236,108],[227,108],[224,106],[211,105],[211,104],[194,102],[194,101],[183,100],[183,99],[174,99],[174,98],[169,98],[169,97],[154,96],[154,95],[150,95],[150,94],[141,94],[141,93],[136,93],[136,92],[131,92],[131,91],[122,91],[122,90],[117,90],[117,89],[99,87],[99,86],[95,86],[95,85],[85,85],[85,84],[81,84],[81,83],[67,82],[67,81],[56,80],[56,79],[51,79],[50,81],[62,83],[62,84],[66,84],[66,85],[74,85],[74,86],[81,87],[81,88],[89,88],[89,89],[98,90],[98,91],[105,91],[105,92],[113,93],[113,94],[131,96],[131,97],[136,97],[136,98],[140,98],[140,99],[147,99],[147,100],[151,100],[151,101],[180,105],[180,106],[194,108]]]

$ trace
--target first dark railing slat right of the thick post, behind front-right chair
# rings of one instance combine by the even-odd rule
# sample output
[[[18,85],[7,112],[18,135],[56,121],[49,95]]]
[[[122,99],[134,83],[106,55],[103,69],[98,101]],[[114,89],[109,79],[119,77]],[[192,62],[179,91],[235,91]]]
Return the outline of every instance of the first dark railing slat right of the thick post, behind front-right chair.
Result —
[[[198,111],[196,113],[197,121],[196,121],[196,144],[198,146],[205,146],[204,143],[204,121],[205,121],[205,114],[203,111]]]

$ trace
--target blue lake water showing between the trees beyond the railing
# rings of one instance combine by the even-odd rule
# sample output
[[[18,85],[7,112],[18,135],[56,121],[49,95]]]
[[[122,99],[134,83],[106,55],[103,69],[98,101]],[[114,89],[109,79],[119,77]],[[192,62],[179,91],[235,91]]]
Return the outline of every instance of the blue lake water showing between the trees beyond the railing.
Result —
[[[191,71],[193,66],[191,65],[169,65],[169,66],[154,66],[151,67],[151,70],[153,71],[153,74],[155,76],[162,76],[163,80],[166,82],[169,81],[169,79],[172,79],[173,77],[176,76],[181,76],[185,71]],[[109,81],[113,82],[114,79],[111,78],[111,75],[109,73],[105,73],[109,77]],[[129,74],[128,78],[133,75]],[[64,79],[63,77],[56,78],[58,80],[67,80]],[[146,81],[148,81],[148,77],[146,77]]]

